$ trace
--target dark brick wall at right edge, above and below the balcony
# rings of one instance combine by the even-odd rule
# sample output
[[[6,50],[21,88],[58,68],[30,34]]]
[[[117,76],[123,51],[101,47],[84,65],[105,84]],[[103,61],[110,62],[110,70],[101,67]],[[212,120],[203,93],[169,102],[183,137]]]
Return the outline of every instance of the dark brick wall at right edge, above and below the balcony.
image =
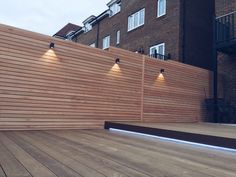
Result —
[[[226,49],[218,51],[219,97],[236,102],[236,1],[216,0],[216,17],[222,21],[232,19],[231,39]],[[228,20],[226,20],[228,23]],[[229,23],[228,23],[229,24]],[[227,24],[227,25],[228,25]],[[228,46],[229,44],[229,46]],[[231,48],[231,51],[229,49]]]

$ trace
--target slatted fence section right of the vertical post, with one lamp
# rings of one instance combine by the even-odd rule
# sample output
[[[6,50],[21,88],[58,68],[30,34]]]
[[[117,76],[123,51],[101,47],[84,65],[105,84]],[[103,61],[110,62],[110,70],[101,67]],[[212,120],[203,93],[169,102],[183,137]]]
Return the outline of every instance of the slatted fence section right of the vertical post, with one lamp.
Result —
[[[211,73],[174,61],[145,61],[144,121],[203,121],[204,100],[212,96]]]

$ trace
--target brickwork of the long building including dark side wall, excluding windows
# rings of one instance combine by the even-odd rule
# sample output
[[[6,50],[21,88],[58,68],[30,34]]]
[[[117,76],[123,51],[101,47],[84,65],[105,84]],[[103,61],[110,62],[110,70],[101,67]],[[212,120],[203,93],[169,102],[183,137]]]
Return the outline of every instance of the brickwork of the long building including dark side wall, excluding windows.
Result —
[[[73,40],[90,45],[98,37],[96,46],[102,48],[103,38],[110,35],[111,46],[134,52],[142,48],[144,54],[149,54],[151,46],[165,43],[165,54],[170,54],[171,59],[212,69],[213,39],[208,34],[212,33],[214,0],[206,0],[204,4],[195,0],[167,0],[166,15],[159,18],[157,3],[157,0],[121,0],[118,14],[104,18],[91,31],[76,35]],[[145,8],[145,24],[128,32],[128,17],[142,8]],[[117,45],[118,30],[121,41]]]

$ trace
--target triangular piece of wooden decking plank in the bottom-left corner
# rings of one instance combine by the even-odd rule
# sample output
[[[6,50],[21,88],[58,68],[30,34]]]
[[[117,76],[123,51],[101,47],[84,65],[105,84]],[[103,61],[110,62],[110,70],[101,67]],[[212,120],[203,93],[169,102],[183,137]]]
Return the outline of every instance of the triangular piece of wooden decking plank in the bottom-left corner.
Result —
[[[22,176],[31,177],[31,174],[25,169],[25,167],[18,161],[14,155],[2,144],[2,139],[0,137],[0,174],[2,176],[6,175],[9,177]],[[4,174],[3,174],[4,170]],[[0,175],[0,176],[1,176]]]

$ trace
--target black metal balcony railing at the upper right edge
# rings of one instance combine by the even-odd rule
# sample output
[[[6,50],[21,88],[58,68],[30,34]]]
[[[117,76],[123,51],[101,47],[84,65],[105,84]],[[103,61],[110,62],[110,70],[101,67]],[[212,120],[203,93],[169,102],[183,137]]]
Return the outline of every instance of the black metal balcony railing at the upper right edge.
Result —
[[[217,44],[236,40],[236,12],[216,18],[215,30]]]

